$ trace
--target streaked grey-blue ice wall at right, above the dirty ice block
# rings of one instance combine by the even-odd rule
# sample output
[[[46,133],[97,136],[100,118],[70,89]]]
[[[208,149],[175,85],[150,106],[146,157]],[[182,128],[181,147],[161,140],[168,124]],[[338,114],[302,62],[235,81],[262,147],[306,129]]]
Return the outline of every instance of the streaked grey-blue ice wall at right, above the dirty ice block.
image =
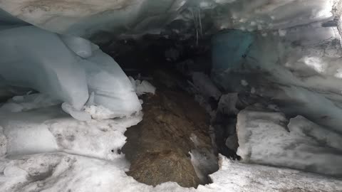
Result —
[[[274,100],[288,115],[302,115],[342,133],[341,36],[336,26],[322,24],[286,28],[284,36],[279,31],[267,36],[254,33],[237,65],[232,67],[227,60],[224,71],[213,65],[214,82],[229,92],[253,90]]]

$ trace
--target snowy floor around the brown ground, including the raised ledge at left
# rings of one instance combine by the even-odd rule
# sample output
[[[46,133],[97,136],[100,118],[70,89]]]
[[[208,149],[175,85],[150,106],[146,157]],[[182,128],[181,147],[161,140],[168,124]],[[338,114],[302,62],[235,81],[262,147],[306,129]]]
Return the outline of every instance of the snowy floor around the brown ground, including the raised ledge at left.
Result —
[[[342,191],[333,178],[223,156],[213,183],[197,189],[138,183],[125,174],[130,165],[118,149],[126,128],[141,119],[79,122],[59,106],[1,113],[0,191]]]

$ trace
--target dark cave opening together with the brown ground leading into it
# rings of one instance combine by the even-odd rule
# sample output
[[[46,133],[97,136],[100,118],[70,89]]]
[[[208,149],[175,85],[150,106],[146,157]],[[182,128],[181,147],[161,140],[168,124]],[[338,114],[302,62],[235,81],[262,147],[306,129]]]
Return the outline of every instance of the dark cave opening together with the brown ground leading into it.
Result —
[[[217,110],[220,98],[207,97],[201,107],[195,101],[198,92],[192,90],[192,73],[211,73],[210,36],[197,44],[194,39],[145,35],[100,47],[128,76],[157,88],[155,95],[142,96],[142,122],[125,132],[128,175],[152,186],[175,181],[197,187],[211,183],[208,175],[218,170],[218,154],[239,159],[237,115]]]

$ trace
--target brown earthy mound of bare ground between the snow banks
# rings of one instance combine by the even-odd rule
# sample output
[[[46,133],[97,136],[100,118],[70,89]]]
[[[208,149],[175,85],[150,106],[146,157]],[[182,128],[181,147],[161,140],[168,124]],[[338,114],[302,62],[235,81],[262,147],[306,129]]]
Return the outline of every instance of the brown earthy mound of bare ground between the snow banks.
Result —
[[[182,90],[157,87],[155,95],[142,100],[142,122],[125,132],[123,153],[131,163],[127,174],[152,186],[167,181],[183,187],[209,183],[207,175],[218,170],[209,114]]]

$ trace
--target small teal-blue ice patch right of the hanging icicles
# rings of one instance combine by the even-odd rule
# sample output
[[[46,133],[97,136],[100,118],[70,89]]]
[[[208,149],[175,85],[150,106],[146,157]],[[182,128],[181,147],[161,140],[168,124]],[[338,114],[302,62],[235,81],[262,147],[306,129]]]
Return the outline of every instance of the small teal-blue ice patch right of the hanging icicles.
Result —
[[[212,70],[237,67],[253,41],[253,33],[240,30],[216,34],[212,38]]]

